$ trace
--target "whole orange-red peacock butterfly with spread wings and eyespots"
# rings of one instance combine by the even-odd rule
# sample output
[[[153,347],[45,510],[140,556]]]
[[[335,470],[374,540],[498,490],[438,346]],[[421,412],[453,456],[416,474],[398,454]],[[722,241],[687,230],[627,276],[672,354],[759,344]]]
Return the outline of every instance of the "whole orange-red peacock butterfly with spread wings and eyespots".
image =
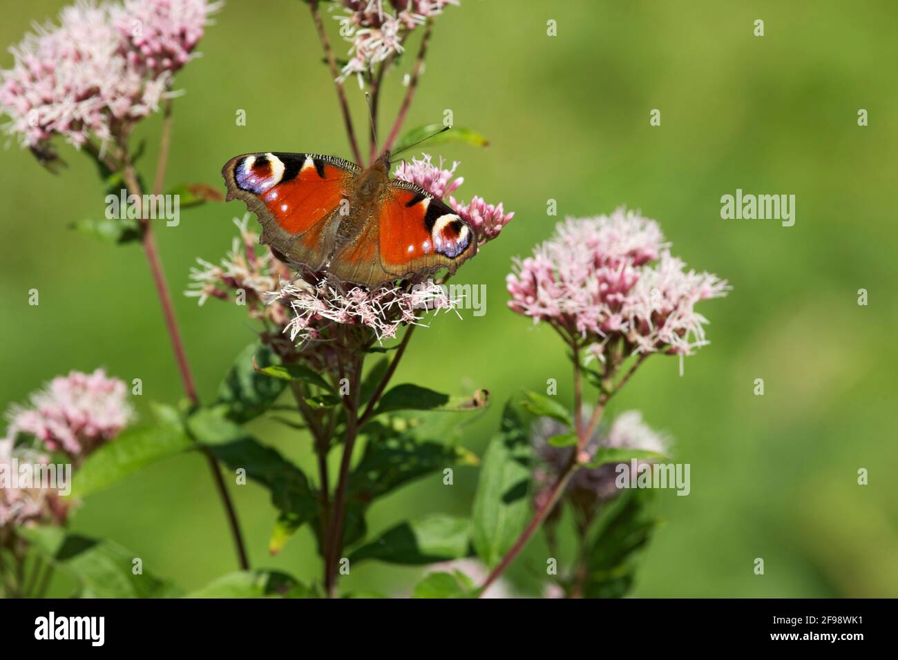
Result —
[[[295,266],[368,286],[454,271],[477,251],[471,228],[441,200],[371,167],[318,154],[242,154],[222,169],[227,199],[258,216],[260,241]]]

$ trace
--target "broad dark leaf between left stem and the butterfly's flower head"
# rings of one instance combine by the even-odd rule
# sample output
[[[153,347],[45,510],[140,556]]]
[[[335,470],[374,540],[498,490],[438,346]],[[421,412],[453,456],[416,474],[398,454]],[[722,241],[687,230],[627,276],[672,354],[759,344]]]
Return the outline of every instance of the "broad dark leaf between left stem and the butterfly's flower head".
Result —
[[[228,418],[247,422],[274,405],[286,382],[260,374],[256,366],[267,368],[276,361],[271,349],[256,341],[244,348],[218,387],[216,403],[228,409]]]

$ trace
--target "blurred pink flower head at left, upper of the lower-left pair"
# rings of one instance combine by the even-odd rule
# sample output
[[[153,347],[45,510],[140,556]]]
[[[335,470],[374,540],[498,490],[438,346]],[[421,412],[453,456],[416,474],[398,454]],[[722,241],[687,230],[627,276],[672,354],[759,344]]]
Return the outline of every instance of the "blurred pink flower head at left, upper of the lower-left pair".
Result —
[[[7,437],[34,436],[50,451],[82,459],[113,440],[134,418],[127,396],[125,383],[107,377],[102,369],[57,376],[31,394],[30,407],[10,409]]]

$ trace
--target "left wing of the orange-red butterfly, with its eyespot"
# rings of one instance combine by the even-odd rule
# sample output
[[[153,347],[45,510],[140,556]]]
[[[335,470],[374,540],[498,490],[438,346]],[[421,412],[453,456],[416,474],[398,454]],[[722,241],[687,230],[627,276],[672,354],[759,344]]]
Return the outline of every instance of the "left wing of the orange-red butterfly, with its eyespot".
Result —
[[[259,217],[260,241],[307,268],[324,266],[334,248],[339,209],[360,172],[319,154],[242,154],[225,163],[227,198]]]

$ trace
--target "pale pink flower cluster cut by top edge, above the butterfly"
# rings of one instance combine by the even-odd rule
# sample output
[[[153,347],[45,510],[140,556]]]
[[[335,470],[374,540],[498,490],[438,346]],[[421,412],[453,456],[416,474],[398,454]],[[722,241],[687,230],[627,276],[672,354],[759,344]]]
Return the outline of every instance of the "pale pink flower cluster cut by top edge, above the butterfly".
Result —
[[[337,17],[340,35],[348,40],[351,56],[340,72],[339,81],[361,75],[388,57],[401,54],[406,34],[428,18],[443,13],[456,0],[390,0],[393,13],[385,11],[383,0],[343,0],[347,13]]]

